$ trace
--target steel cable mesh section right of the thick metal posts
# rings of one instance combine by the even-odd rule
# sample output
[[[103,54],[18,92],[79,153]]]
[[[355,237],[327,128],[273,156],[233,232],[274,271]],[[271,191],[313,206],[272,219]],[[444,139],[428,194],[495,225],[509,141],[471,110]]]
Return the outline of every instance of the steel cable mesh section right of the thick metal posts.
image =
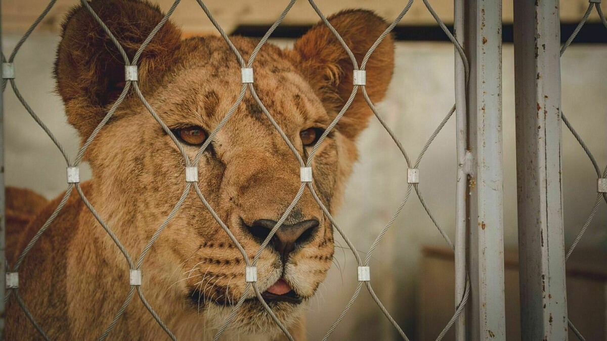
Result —
[[[586,13],[580,20],[580,23],[577,25],[577,27],[575,27],[574,32],[571,33],[571,36],[569,36],[569,38],[567,39],[565,44],[563,44],[563,46],[561,47],[561,51],[560,51],[561,56],[563,56],[563,53],[565,53],[565,50],[567,50],[567,47],[569,47],[569,45],[571,45],[571,43],[574,41],[575,36],[577,36],[577,33],[580,32],[580,30],[582,29],[584,24],[586,24],[586,21],[588,21],[588,17],[591,15],[593,10],[596,10],[597,14],[599,15],[600,21],[603,23],[603,26],[605,26],[605,29],[607,29],[607,18],[605,18],[605,15],[603,15],[603,11],[601,9],[600,2],[601,2],[600,0],[589,0],[588,8],[586,8]],[[605,32],[604,34],[607,34],[607,32]],[[588,160],[590,160],[590,162],[592,163],[592,167],[594,167],[594,170],[597,174],[597,192],[598,192],[597,198],[594,201],[594,206],[592,206],[592,209],[590,211],[590,214],[588,215],[588,218],[586,218],[584,225],[582,226],[582,228],[580,228],[580,231],[575,236],[575,239],[574,239],[573,243],[571,244],[571,247],[569,247],[569,250],[567,251],[567,254],[565,255],[565,261],[567,261],[569,259],[569,256],[571,256],[571,254],[573,253],[575,246],[577,246],[577,244],[582,239],[584,232],[586,232],[586,229],[588,229],[588,226],[590,226],[592,219],[597,214],[601,201],[605,201],[605,203],[607,203],[607,165],[605,166],[605,169],[603,169],[603,172],[601,172],[601,170],[599,168],[599,164],[597,163],[597,160],[595,159],[594,155],[592,155],[592,152],[590,151],[590,149],[588,148],[588,146],[586,145],[584,140],[582,140],[582,137],[580,136],[580,134],[577,131],[575,131],[571,122],[567,119],[567,117],[565,116],[565,113],[562,110],[561,110],[561,119],[563,120],[563,123],[565,123],[565,126],[567,126],[569,131],[574,135],[575,140],[577,140],[577,142],[580,144],[580,147],[582,147],[582,149],[588,156]],[[568,320],[568,324],[569,324],[569,328],[571,328],[571,331],[573,331],[573,333],[575,334],[575,336],[578,337],[578,339],[580,339],[582,341],[586,340],[582,336],[582,333],[580,333],[580,331],[578,331],[577,328],[575,328],[575,326],[571,322],[571,320]]]

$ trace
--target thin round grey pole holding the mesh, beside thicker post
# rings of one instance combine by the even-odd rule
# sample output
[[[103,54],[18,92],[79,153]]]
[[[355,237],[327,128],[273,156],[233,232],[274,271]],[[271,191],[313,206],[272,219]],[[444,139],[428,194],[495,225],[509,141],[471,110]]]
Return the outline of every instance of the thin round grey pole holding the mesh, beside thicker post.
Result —
[[[455,0],[453,3],[453,31],[455,38],[464,46],[464,0]],[[457,145],[457,182],[455,187],[455,306],[461,303],[466,290],[466,207],[468,198],[468,176],[472,170],[472,158],[468,150],[468,129],[466,120],[466,71],[464,62],[455,49],[455,119]],[[455,340],[466,341],[466,313],[459,315],[455,322]]]

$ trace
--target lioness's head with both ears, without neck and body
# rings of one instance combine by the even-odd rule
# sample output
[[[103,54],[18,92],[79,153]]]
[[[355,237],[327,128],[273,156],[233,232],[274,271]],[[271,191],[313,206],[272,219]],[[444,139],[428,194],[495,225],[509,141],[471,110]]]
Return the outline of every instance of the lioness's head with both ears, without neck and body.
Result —
[[[162,18],[157,8],[138,1],[91,5],[130,57]],[[362,10],[339,13],[330,21],[358,62],[386,27],[382,19]],[[231,41],[245,60],[257,45],[248,38]],[[83,141],[123,89],[123,66],[90,14],[83,8],[73,10],[64,23],[55,74],[68,120]],[[181,40],[178,29],[168,22],[144,50],[138,67],[139,86],[149,106],[194,160],[239,98],[242,83],[236,56],[219,37]],[[353,66],[345,50],[327,27],[317,25],[294,49],[265,44],[253,69],[256,95],[306,161],[351,93]],[[371,100],[381,100],[393,69],[390,37],[366,69],[367,92]],[[314,190],[331,214],[339,207],[356,160],[356,137],[370,115],[358,94],[314,155]],[[198,183],[192,183],[187,194],[180,149],[132,91],[93,140],[86,160],[95,179],[93,206],[102,215],[114,212],[110,223],[134,254],[140,254],[174,213],[143,266],[149,290],[170,289],[172,295],[162,304],[203,312],[221,325],[244,298],[235,325],[249,333],[274,328],[254,291],[245,294],[242,254],[195,189],[251,260],[296,197],[301,186],[299,161],[249,90],[202,153]],[[183,202],[174,211],[180,199]],[[333,228],[305,188],[257,263],[262,297],[285,324],[296,321],[332,259]],[[169,299],[178,302],[166,302]]]

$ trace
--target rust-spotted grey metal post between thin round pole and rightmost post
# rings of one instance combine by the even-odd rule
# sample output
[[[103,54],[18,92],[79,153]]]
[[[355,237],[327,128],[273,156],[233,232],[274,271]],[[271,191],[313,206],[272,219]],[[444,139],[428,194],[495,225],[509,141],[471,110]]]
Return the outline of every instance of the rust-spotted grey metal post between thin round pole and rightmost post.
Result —
[[[501,1],[466,1],[464,30],[470,63],[469,269],[470,339],[505,340],[501,120]]]

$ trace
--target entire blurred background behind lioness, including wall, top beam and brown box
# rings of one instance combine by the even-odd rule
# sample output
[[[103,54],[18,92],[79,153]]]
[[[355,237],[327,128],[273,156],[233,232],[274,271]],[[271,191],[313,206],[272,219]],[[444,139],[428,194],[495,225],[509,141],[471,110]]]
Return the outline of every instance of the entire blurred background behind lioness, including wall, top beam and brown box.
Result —
[[[503,2],[503,157],[504,243],[506,249],[507,338],[520,340],[517,272],[517,187],[514,132],[514,49],[512,0]],[[158,2],[168,10],[172,1]],[[78,138],[66,123],[63,105],[53,93],[51,76],[59,24],[76,0],[59,0],[15,59],[16,82],[25,100],[70,155]],[[205,2],[226,32],[261,36],[288,1],[209,0]],[[430,2],[452,27],[453,2]],[[405,1],[319,0],[325,15],[345,8],[370,8],[392,21]],[[5,0],[1,4],[2,51],[10,54],[46,0]],[[563,39],[582,18],[588,1],[561,2]],[[605,8],[605,5],[603,5]],[[607,12],[607,8],[604,9]],[[290,46],[317,22],[307,1],[291,9],[271,42]],[[178,5],[172,21],[185,36],[215,35],[195,1]],[[396,67],[381,115],[416,158],[424,143],[454,103],[453,46],[421,1],[416,1],[395,30]],[[602,168],[607,163],[607,29],[595,14],[561,59],[562,108]],[[556,70],[555,70],[556,72]],[[5,174],[8,186],[27,187],[54,198],[64,191],[65,164],[56,147],[37,126],[10,89],[5,91]],[[388,134],[373,118],[358,141],[359,162],[347,187],[337,221],[357,249],[368,250],[390,220],[407,189],[406,163]],[[596,198],[596,174],[571,133],[563,126],[563,191],[565,241],[571,245]],[[424,157],[419,185],[441,226],[454,238],[455,120],[447,123]],[[603,168],[602,168],[603,169]],[[90,177],[90,172],[85,172]],[[82,176],[82,175],[81,175]],[[308,313],[310,340],[322,336],[337,319],[356,288],[356,263],[344,241],[336,238],[335,265]],[[411,195],[371,261],[373,288],[388,311],[413,339],[433,340],[454,311],[453,257],[421,204]],[[568,305],[572,322],[588,340],[607,340],[607,208],[597,215],[568,263]],[[447,339],[452,339],[449,334]],[[333,334],[335,340],[393,340],[397,334],[363,289]]]

